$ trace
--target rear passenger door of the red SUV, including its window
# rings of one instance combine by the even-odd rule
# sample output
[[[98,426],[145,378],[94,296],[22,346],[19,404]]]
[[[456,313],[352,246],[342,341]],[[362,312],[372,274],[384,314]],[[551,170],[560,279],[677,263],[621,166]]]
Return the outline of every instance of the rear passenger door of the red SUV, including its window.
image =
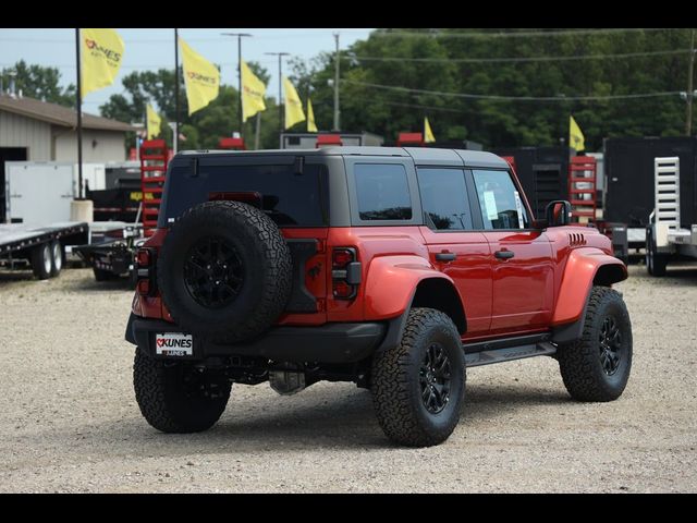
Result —
[[[455,282],[467,338],[484,336],[491,323],[491,252],[485,234],[473,230],[465,172],[433,167],[418,168],[417,175],[430,262]]]

